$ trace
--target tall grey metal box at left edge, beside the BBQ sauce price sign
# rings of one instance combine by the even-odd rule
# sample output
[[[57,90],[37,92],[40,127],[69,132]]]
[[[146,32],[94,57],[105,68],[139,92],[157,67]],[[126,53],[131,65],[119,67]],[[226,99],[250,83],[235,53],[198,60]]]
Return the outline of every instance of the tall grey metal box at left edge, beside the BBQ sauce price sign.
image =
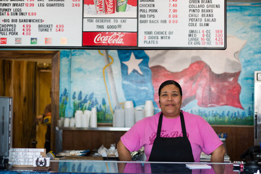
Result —
[[[6,168],[12,164],[10,150],[12,149],[12,97],[0,97],[0,167]],[[10,166],[10,165],[9,165]]]

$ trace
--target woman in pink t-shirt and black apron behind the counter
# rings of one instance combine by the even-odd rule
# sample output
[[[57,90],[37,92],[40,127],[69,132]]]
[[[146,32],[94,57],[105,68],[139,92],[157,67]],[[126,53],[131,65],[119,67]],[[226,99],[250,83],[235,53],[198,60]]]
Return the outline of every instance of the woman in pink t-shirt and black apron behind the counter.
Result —
[[[225,148],[213,128],[199,115],[180,110],[182,89],[173,80],[159,88],[162,112],[138,121],[117,144],[119,160],[144,146],[146,161],[200,162],[203,151],[211,162],[224,162]]]

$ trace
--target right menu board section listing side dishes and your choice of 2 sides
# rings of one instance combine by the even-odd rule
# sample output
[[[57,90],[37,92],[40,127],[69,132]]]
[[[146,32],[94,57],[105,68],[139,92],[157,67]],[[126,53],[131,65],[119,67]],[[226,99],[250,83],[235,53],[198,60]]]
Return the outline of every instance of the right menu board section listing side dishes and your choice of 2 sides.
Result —
[[[139,0],[139,47],[225,46],[224,1]]]

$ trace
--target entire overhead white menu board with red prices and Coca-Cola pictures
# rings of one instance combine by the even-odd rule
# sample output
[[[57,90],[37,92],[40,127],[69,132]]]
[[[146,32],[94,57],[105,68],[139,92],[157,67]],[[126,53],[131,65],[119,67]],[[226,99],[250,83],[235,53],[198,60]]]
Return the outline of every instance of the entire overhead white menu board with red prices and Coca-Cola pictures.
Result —
[[[0,48],[226,49],[226,1],[0,0]]]

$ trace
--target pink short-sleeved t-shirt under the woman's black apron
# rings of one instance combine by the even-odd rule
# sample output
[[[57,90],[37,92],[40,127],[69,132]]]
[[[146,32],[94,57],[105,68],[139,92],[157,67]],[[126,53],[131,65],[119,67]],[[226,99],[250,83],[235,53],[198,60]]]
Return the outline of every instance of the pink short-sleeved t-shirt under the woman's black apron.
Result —
[[[139,120],[121,137],[122,143],[131,152],[138,151],[144,146],[146,161],[150,157],[157,134],[160,114],[161,112]],[[188,112],[184,112],[183,115],[194,160],[200,162],[201,151],[209,155],[223,143],[209,123],[202,117]],[[180,117],[169,119],[163,116],[160,137],[182,137]]]

